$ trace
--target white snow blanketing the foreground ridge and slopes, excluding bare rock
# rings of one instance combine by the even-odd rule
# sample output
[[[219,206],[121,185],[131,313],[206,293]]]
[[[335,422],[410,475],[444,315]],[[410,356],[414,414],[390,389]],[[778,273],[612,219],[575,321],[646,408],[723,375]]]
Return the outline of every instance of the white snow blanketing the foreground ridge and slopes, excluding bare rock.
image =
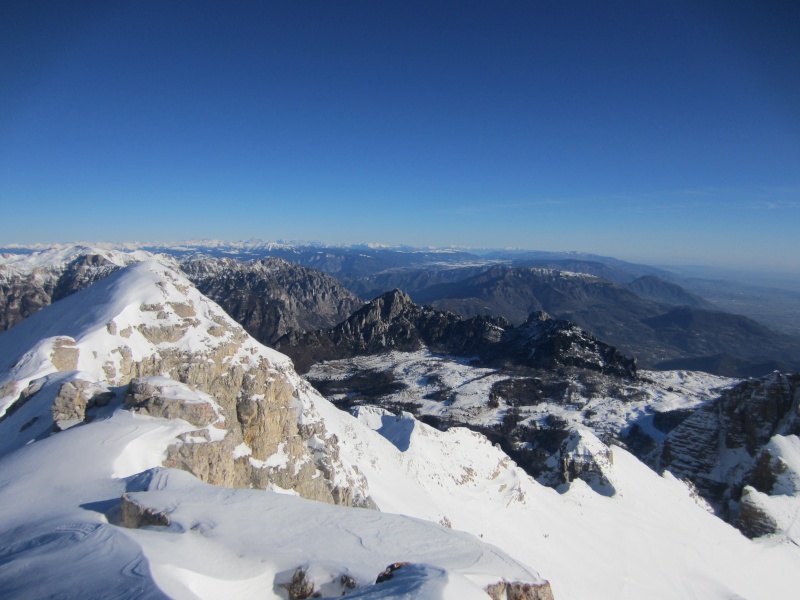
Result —
[[[0,388],[20,384],[2,410],[29,382],[44,386],[0,422],[0,439],[10,440],[0,449],[0,595],[285,598],[281,585],[303,567],[328,595],[342,591],[339,576],[348,574],[358,586],[354,598],[455,600],[486,598],[482,588],[499,579],[541,581],[535,567],[558,600],[795,596],[800,547],[791,537],[748,540],[709,514],[684,483],[624,450],[612,449],[615,495],[597,494],[580,480],[558,493],[474,432],[439,432],[377,408],[363,407],[355,417],[336,409],[291,371],[286,357],[253,340],[231,360],[255,365],[265,356],[290,377],[301,419],[323,420],[339,440],[342,461],[365,475],[382,512],[219,488],[165,470],[167,446],[193,427],[134,415],[118,403],[54,435],[26,434],[37,425],[19,431],[24,411],[47,412],[52,396],[45,391],[63,378],[113,388],[102,367],[115,348],[127,345],[135,360],[158,350],[136,329],[158,320],[142,306],[162,304],[170,320],[177,318],[170,303],[189,302],[199,323],[175,347],[224,343],[208,329],[227,317],[155,261],[121,270],[0,335],[0,366],[9,369]],[[115,328],[108,327],[112,320]],[[121,337],[129,326],[129,337]],[[77,372],[54,366],[58,338],[79,349]],[[180,387],[175,394],[208,401]],[[659,398],[680,402],[667,392]],[[587,447],[601,443],[585,434]],[[797,441],[787,440],[775,443],[788,444],[782,456],[794,461]],[[169,515],[171,524],[120,527],[125,492]],[[405,560],[415,566],[371,585],[387,564]]]

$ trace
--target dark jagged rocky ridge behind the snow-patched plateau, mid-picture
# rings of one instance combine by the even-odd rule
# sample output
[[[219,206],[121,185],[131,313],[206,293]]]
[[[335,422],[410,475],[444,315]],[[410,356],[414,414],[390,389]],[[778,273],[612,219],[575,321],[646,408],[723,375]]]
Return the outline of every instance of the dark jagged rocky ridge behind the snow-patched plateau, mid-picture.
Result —
[[[576,325],[535,313],[520,327],[505,319],[457,315],[417,306],[401,292],[388,292],[327,331],[281,338],[276,348],[289,354],[300,372],[322,360],[389,350],[479,357],[487,364],[552,369],[575,366],[635,378],[636,365]]]

